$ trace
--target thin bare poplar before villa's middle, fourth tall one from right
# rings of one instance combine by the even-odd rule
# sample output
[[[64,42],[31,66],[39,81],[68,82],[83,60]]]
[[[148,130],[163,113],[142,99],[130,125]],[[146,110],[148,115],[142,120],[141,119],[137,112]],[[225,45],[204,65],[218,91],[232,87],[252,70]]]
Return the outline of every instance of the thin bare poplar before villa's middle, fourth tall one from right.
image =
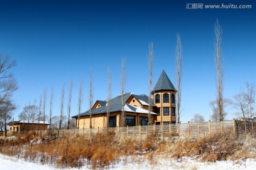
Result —
[[[121,86],[121,104],[122,104],[122,114],[120,118],[120,127],[125,125],[125,111],[124,111],[124,86],[126,83],[126,75],[125,75],[125,59],[122,58],[122,67],[121,67],[121,79],[120,79],[120,86]]]

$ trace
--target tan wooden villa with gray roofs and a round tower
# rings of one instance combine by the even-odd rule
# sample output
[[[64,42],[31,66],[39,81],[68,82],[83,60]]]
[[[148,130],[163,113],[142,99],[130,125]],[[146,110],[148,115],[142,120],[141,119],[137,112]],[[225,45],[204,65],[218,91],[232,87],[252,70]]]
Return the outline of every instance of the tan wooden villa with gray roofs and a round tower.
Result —
[[[132,93],[123,94],[125,125],[162,125],[176,123],[175,94],[176,89],[171,83],[166,72],[161,73],[159,80],[151,91],[153,100],[151,103],[151,119],[149,120],[149,96],[145,94],[137,95]],[[92,128],[107,127],[107,103],[110,103],[109,127],[120,127],[122,115],[122,95],[107,101],[96,101],[92,106]],[[90,110],[80,115],[74,115],[76,128],[90,128]],[[79,120],[79,123],[78,123]]]

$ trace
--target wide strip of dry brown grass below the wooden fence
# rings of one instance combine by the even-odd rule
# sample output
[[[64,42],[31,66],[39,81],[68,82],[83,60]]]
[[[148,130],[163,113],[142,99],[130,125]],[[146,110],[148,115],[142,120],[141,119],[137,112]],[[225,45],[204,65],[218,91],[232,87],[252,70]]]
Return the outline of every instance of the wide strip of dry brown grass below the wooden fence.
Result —
[[[117,137],[114,132],[85,135],[65,135],[50,138],[36,132],[23,133],[16,137],[0,138],[0,152],[31,162],[55,164],[58,167],[81,167],[92,169],[110,168],[121,161],[120,157],[144,155],[150,164],[157,164],[160,157],[181,159],[194,157],[201,161],[215,162],[226,159],[256,158],[256,141],[247,136],[245,140],[230,138],[227,134],[215,134],[196,141],[188,139],[166,142],[154,134],[144,140],[135,137]],[[164,156],[166,155],[166,156]],[[122,162],[126,162],[122,159]]]

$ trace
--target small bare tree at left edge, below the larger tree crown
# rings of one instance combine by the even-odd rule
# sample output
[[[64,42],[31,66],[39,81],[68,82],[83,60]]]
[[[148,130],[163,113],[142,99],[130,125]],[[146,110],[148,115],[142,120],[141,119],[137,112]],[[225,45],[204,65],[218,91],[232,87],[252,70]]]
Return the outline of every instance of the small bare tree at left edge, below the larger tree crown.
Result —
[[[0,102],[0,119],[4,122],[4,136],[7,136],[7,121],[11,120],[16,106],[8,98]]]

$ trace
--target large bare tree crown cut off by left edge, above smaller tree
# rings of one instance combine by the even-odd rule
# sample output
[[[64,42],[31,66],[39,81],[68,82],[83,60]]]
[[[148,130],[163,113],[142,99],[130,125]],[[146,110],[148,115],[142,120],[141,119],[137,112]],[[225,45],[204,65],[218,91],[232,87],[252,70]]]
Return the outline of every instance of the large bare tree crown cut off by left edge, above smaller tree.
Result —
[[[17,82],[11,74],[10,69],[16,66],[15,61],[7,55],[3,57],[0,54],[0,103],[8,102],[14,91],[18,89]],[[6,100],[6,101],[5,101]]]

